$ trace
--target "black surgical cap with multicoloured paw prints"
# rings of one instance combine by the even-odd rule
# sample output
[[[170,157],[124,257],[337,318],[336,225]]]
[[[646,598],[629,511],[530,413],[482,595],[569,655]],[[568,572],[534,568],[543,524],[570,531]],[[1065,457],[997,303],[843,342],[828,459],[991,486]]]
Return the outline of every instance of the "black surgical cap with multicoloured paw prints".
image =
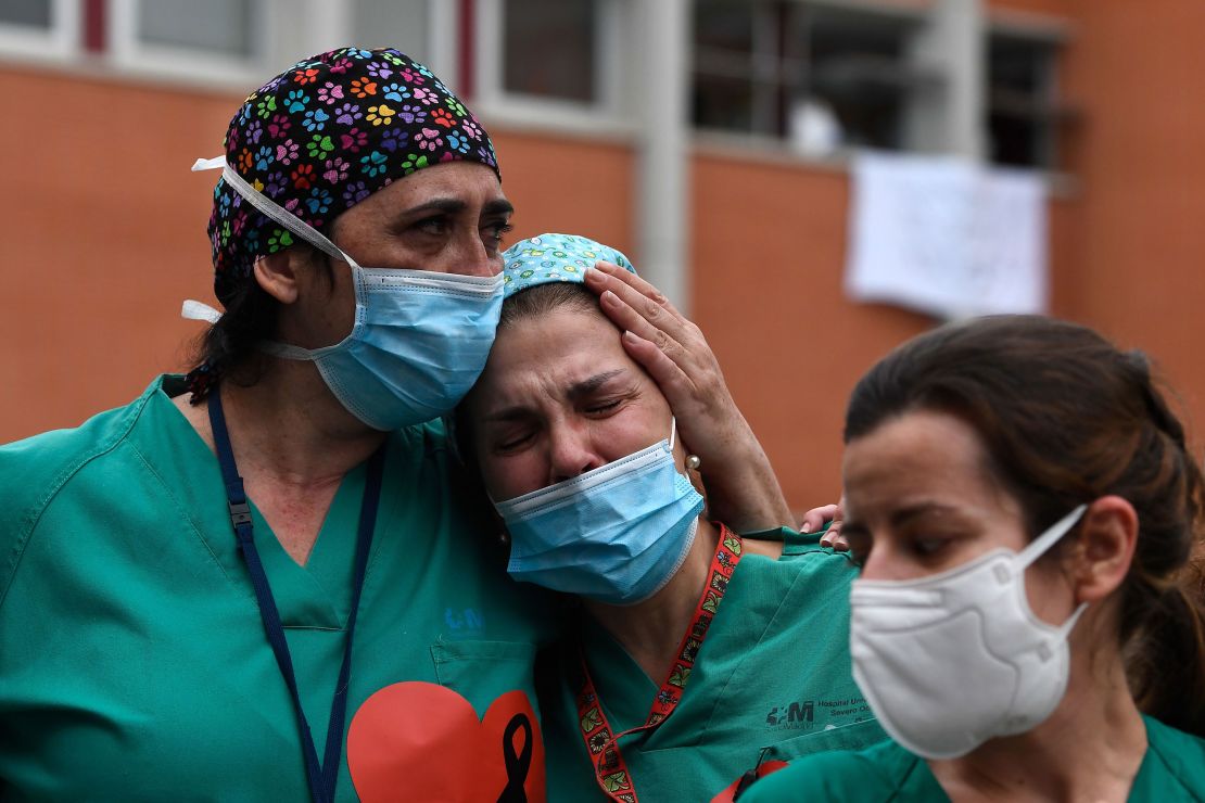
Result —
[[[393,48],[343,47],[298,61],[253,91],[230,120],[227,161],[257,190],[329,235],[340,213],[390,182],[445,161],[501,178],[481,123],[425,66]],[[217,297],[293,235],[227,182],[210,217]]]

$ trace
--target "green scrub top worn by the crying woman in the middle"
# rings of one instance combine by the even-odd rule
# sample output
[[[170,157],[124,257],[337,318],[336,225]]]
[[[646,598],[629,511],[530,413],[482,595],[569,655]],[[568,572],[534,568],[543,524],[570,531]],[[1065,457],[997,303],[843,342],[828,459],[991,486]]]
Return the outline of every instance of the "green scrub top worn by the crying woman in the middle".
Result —
[[[819,535],[775,530],[745,536],[783,541],[777,560],[746,553],[707,631],[674,714],[651,732],[619,740],[641,803],[709,801],[759,757],[787,761],[821,750],[856,750],[887,736],[874,720],[850,663],[850,560]],[[588,615],[580,633],[602,708],[616,731],[642,725],[654,681]],[[675,636],[675,639],[677,636]],[[576,642],[541,672],[549,801],[606,799],[582,742],[570,686]]]

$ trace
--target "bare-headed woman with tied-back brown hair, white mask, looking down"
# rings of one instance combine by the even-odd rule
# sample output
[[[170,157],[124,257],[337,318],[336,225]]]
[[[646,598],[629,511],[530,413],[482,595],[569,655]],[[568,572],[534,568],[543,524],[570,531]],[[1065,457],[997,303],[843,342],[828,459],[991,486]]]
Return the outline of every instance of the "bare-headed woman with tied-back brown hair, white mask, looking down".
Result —
[[[1205,484],[1141,353],[944,326],[859,382],[844,474],[854,672],[893,740],[742,803],[1205,799]]]

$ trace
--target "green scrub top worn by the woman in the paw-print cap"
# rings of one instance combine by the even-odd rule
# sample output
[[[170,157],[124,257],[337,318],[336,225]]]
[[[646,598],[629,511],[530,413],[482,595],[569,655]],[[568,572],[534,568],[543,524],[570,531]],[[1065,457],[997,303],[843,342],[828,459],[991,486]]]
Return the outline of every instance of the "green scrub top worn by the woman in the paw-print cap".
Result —
[[[308,799],[293,703],[217,459],[169,398],[182,391],[180,378],[161,377],[128,407],[0,448],[0,798]],[[431,725],[451,721],[441,707],[466,701],[482,718],[511,691],[521,698],[506,705],[535,707],[536,648],[557,622],[537,590],[506,577],[463,479],[441,425],[389,436],[341,801],[357,798],[348,762],[378,758],[366,742],[408,745],[398,773],[470,769],[484,758],[429,744]],[[364,466],[345,477],[304,567],[252,510],[319,756],[364,483]],[[404,704],[365,705],[402,681],[455,695],[410,684]],[[375,721],[372,739],[357,742],[357,716]],[[395,726],[382,736],[381,721]],[[501,739],[488,750],[501,766]],[[542,767],[527,772],[537,783]]]

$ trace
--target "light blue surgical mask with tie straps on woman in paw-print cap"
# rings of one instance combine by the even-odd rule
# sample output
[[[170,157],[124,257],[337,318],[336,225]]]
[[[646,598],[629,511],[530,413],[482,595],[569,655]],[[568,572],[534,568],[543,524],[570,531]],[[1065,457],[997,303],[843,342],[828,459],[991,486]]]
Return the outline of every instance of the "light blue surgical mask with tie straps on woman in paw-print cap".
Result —
[[[451,412],[486,367],[502,311],[502,276],[360,267],[219,159],[223,178],[252,206],[352,267],[355,323],[347,337],[317,349],[286,343],[261,348],[288,360],[312,361],[343,407],[376,430]]]

